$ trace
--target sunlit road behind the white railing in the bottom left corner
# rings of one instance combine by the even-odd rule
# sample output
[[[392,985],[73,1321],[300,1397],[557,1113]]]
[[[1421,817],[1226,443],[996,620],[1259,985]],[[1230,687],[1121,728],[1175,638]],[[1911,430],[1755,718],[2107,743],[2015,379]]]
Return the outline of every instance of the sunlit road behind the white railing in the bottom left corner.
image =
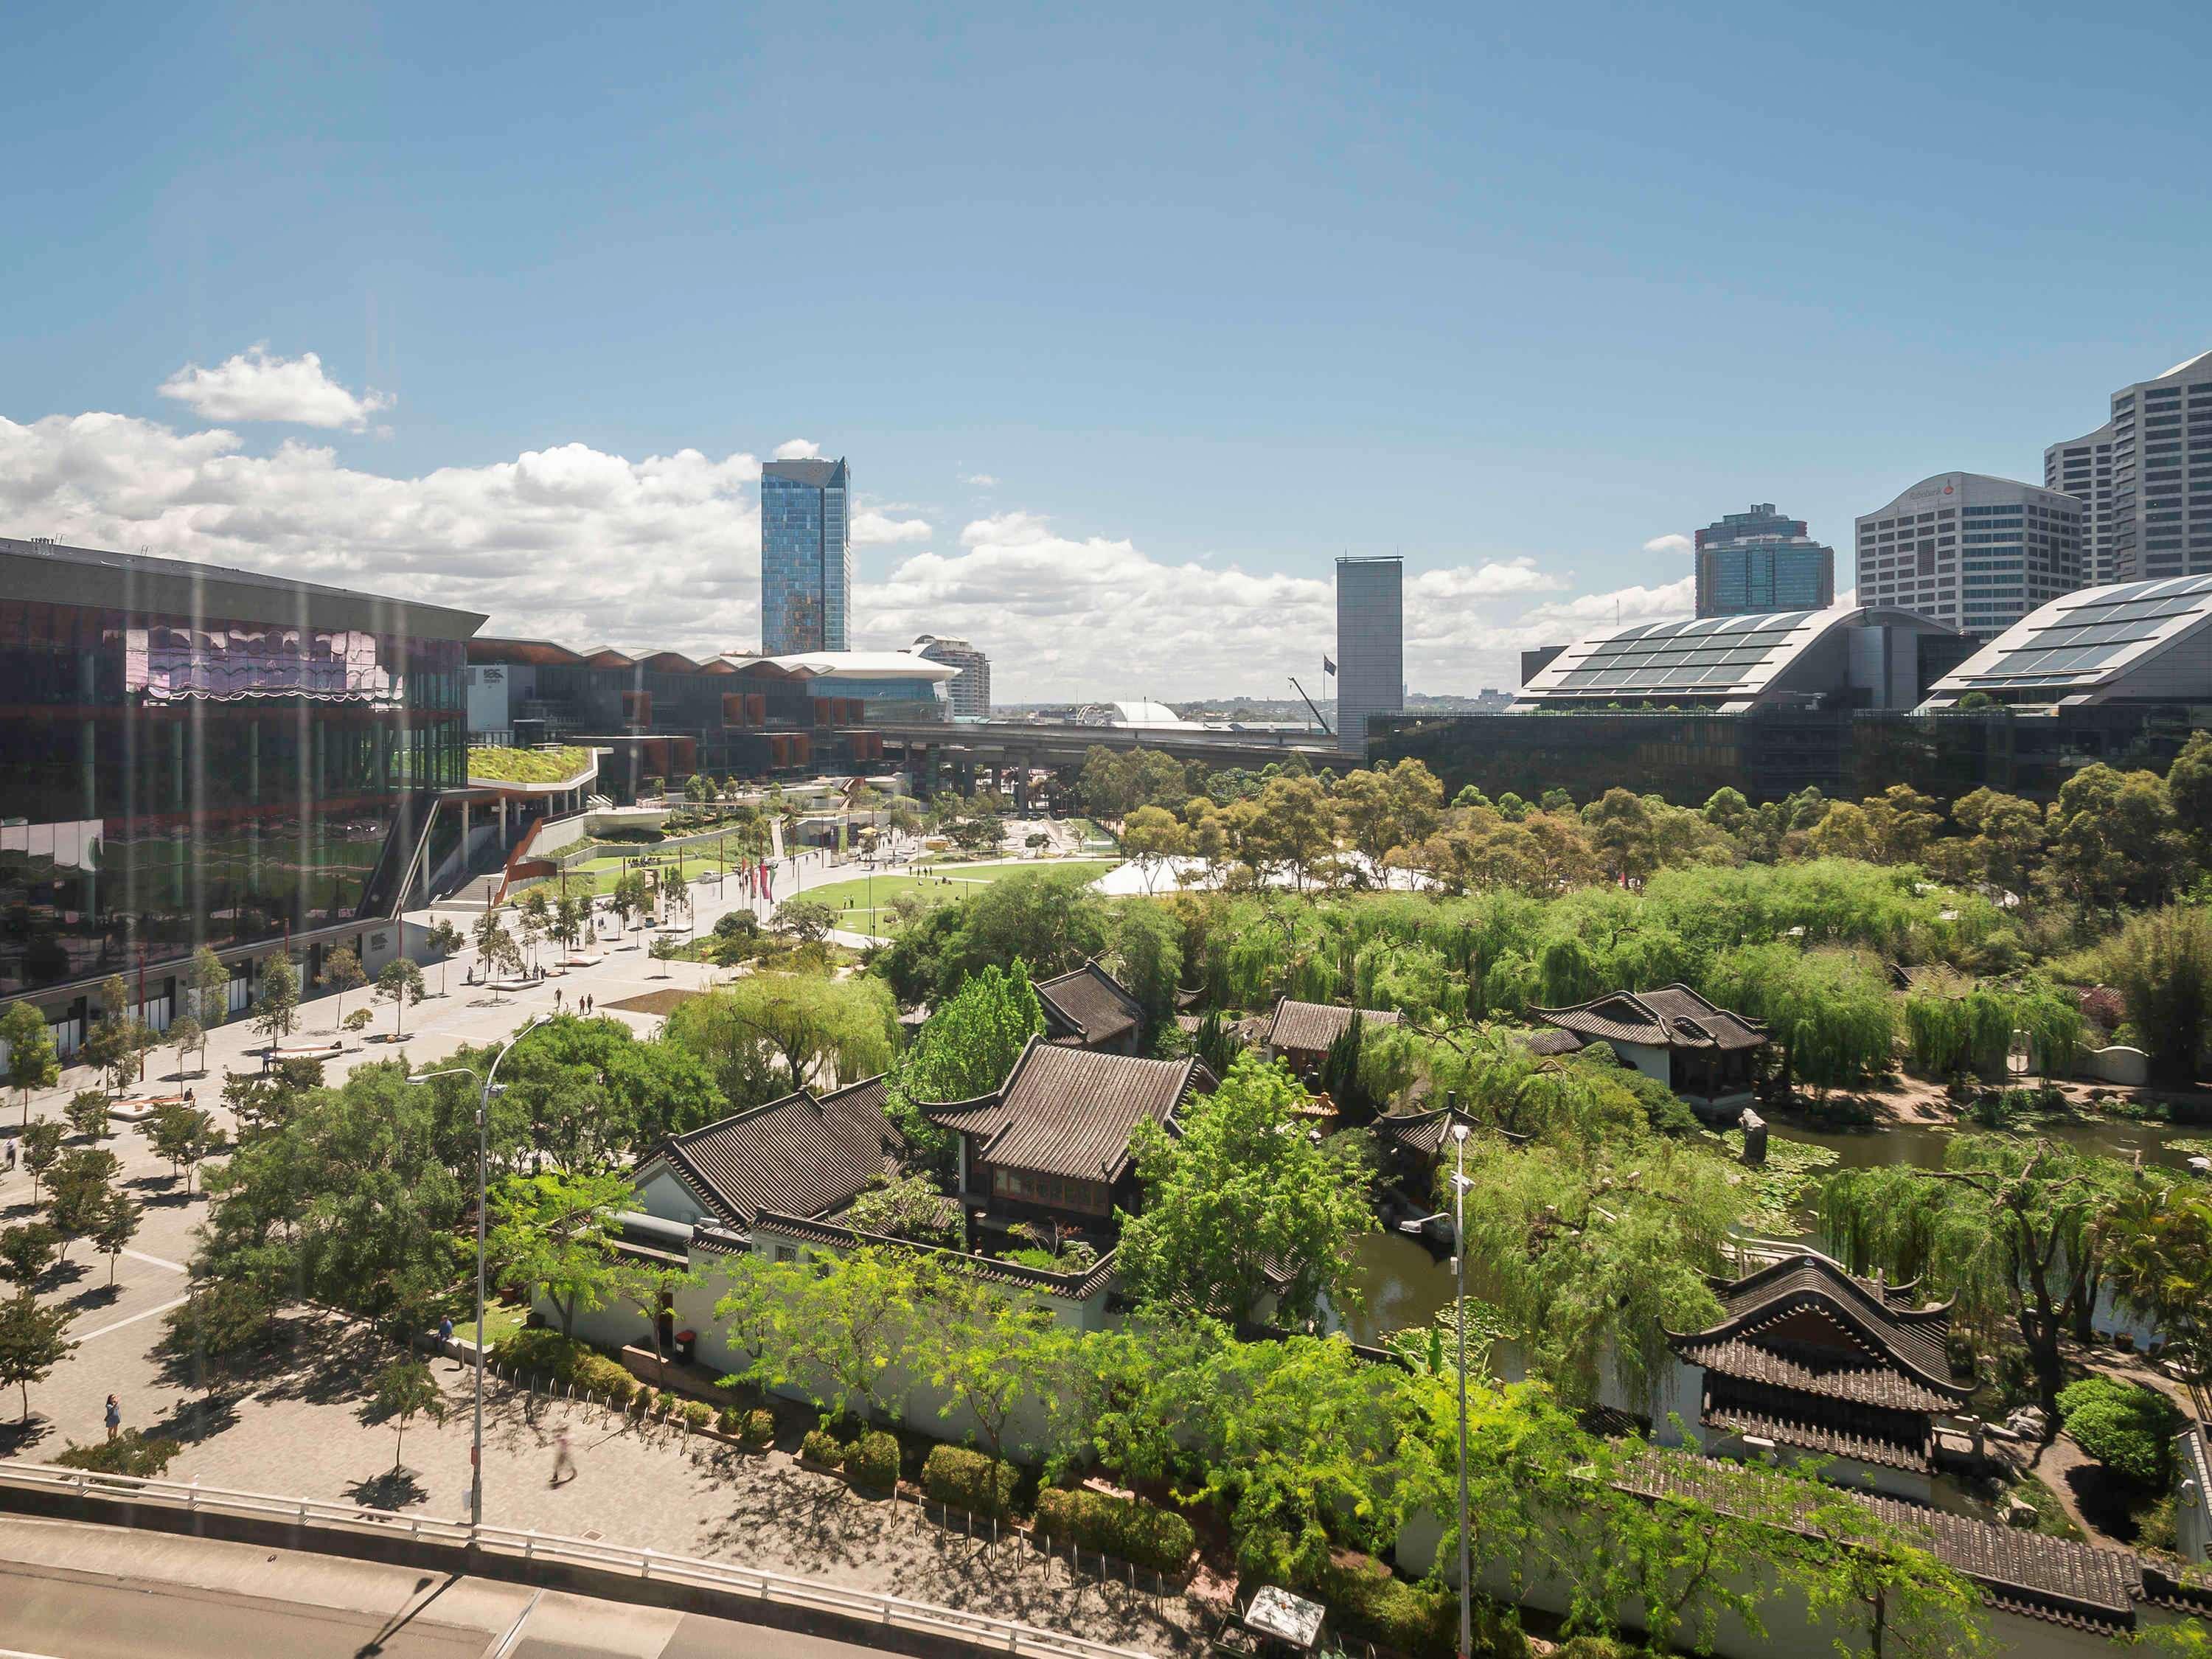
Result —
[[[526,1584],[0,1520],[0,1659],[858,1659],[872,1648]]]

